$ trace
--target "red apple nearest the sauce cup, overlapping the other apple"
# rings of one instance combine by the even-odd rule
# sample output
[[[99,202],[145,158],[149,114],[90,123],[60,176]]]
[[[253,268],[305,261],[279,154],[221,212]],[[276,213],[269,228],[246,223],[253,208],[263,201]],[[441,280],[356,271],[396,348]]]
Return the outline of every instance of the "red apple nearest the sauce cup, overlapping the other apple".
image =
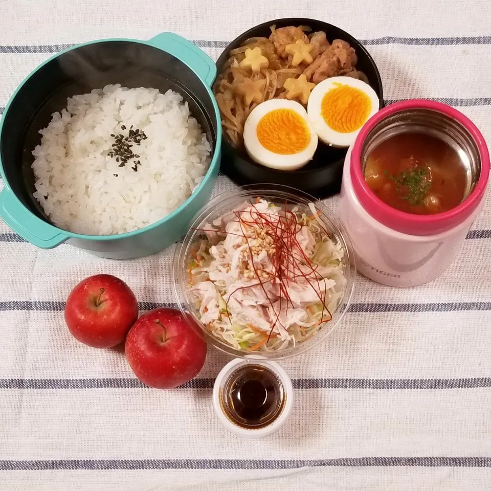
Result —
[[[157,308],[138,319],[128,332],[126,358],[135,375],[156,389],[173,389],[202,369],[206,342],[192,319],[173,308]]]

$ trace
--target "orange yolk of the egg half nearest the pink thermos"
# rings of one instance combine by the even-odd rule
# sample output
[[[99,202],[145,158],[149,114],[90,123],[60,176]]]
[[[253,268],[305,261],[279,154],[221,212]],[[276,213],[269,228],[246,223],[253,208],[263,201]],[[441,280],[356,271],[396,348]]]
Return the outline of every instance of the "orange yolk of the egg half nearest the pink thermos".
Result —
[[[372,101],[359,88],[338,85],[325,94],[321,115],[327,126],[338,133],[352,133],[360,129],[372,110]]]

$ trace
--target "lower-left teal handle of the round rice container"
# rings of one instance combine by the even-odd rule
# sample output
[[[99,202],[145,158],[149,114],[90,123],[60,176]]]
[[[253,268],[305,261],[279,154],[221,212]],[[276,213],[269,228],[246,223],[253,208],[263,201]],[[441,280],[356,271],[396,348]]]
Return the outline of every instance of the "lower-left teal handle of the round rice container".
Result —
[[[0,192],[0,216],[14,232],[41,249],[52,249],[68,239],[29,211],[7,188]]]

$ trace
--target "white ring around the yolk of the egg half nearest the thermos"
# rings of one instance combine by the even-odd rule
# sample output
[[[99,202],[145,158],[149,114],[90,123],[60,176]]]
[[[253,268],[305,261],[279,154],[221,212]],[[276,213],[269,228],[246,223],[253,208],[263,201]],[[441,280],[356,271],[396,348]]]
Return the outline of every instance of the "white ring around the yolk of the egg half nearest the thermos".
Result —
[[[307,102],[307,114],[310,121],[312,121],[314,124],[319,139],[327,145],[333,147],[349,147],[354,142],[356,135],[358,135],[363,125],[351,133],[339,133],[327,125],[321,114],[322,99],[327,92],[338,87],[339,85],[337,84],[349,85],[351,87],[358,88],[370,98],[372,107],[367,121],[378,111],[379,100],[377,94],[373,88],[368,85],[368,83],[351,77],[326,78],[322,82],[318,83],[310,93],[310,97],[308,98]]]

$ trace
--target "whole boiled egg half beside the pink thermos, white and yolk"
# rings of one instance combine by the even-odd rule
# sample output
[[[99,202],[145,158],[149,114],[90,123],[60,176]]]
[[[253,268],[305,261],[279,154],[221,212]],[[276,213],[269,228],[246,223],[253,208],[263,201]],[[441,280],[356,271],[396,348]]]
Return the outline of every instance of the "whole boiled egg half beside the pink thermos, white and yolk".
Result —
[[[307,102],[307,114],[327,145],[349,147],[378,111],[378,96],[368,83],[351,77],[326,78]]]

